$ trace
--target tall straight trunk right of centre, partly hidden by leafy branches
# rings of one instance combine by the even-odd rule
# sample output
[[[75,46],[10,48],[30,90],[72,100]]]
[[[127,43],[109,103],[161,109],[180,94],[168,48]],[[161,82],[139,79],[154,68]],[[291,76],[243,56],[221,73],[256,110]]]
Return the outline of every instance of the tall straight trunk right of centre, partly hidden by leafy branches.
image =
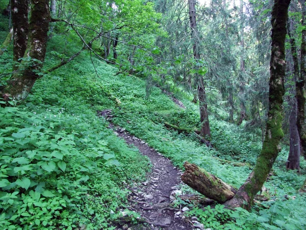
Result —
[[[188,0],[189,5],[189,21],[191,28],[191,40],[193,42],[193,57],[197,61],[200,59],[199,47],[198,47],[198,31],[196,27],[195,17],[195,0]],[[199,97],[199,110],[200,110],[200,122],[202,124],[200,135],[203,137],[210,137],[210,127],[208,119],[208,108],[205,94],[205,84],[202,75],[195,77],[198,79],[198,97]]]

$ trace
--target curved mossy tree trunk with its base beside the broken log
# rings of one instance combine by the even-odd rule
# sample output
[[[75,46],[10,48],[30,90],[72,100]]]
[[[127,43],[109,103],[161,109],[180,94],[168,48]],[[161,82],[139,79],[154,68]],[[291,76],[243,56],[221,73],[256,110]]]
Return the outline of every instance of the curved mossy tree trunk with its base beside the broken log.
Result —
[[[274,0],[272,9],[272,49],[269,82],[269,111],[265,141],[256,166],[235,197],[225,205],[250,209],[254,196],[261,190],[279,152],[282,130],[284,78],[286,72],[285,37],[290,0]]]

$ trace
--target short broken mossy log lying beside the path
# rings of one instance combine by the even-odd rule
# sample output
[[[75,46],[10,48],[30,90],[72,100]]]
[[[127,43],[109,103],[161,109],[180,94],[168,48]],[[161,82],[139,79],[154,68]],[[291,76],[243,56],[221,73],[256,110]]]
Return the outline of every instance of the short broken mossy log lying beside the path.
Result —
[[[206,170],[189,162],[185,162],[184,167],[186,171],[182,175],[182,181],[206,197],[224,203],[235,196],[235,188]]]

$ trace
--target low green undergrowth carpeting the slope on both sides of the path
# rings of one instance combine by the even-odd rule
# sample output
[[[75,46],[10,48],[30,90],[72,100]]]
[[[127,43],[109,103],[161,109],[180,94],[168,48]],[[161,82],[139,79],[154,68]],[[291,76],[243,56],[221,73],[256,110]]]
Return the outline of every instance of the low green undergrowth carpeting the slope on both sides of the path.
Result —
[[[62,56],[57,52],[60,40],[54,36],[49,42],[46,69],[78,52],[67,43],[61,47],[66,51]],[[157,87],[147,97],[144,80],[116,75],[114,66],[95,58],[93,63],[98,76],[84,52],[39,79],[23,105],[1,108],[4,229],[112,229],[111,221],[126,205],[126,185],[144,179],[148,159],[118,139],[108,122],[96,116],[97,110],[112,109],[115,125],[169,157],[175,166],[183,169],[188,161],[237,188],[242,185],[260,153],[259,136],[211,116],[214,148],[200,145],[193,131],[179,133],[164,125],[199,129],[198,105],[183,95],[182,109]],[[182,204],[212,229],[304,229],[306,201],[296,191],[306,164],[301,163],[302,175],[286,171],[287,154],[284,148],[265,184],[272,201],[255,205],[250,213],[221,205],[202,211]]]

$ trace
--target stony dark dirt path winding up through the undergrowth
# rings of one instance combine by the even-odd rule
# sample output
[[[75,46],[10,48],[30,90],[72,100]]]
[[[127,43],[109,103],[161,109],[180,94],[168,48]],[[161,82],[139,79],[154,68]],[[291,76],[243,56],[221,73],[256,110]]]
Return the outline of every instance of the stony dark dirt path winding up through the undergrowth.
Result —
[[[183,211],[171,207],[171,202],[175,199],[174,194],[182,194],[182,191],[177,189],[177,186],[182,183],[182,171],[174,167],[168,158],[123,128],[115,128],[113,125],[110,127],[127,144],[134,145],[143,155],[148,156],[152,164],[152,170],[147,174],[147,180],[141,185],[135,185],[132,188],[133,192],[129,195],[129,209],[140,213],[144,219],[143,222],[147,224],[126,223],[116,229],[192,229],[189,220],[183,217]],[[124,212],[122,214],[125,215]]]

